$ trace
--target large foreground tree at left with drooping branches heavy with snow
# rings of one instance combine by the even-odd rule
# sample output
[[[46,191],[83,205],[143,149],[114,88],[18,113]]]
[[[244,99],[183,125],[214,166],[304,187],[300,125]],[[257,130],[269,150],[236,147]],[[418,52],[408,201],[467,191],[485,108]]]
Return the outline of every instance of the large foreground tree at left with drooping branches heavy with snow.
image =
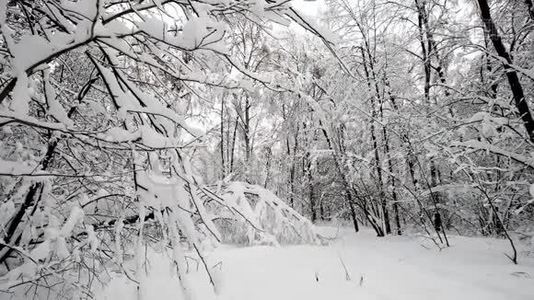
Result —
[[[286,3],[253,4],[0,3],[0,274],[18,280],[8,290],[91,297],[108,267],[142,285],[144,247],[160,239],[181,279],[185,240],[214,284],[201,241],[221,236],[206,203],[228,205],[191,171],[203,137],[185,119],[214,88],[271,85],[228,54],[230,20],[311,29]],[[123,267],[131,254],[135,274]]]

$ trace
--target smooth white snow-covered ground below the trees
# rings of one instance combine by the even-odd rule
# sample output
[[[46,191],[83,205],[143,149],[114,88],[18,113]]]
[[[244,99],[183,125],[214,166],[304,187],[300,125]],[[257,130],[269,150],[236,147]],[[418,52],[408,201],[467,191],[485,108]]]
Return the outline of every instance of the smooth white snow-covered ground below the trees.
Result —
[[[520,256],[513,265],[504,240],[450,240],[452,247],[439,251],[422,238],[341,229],[329,246],[222,246],[209,259],[220,270],[218,296],[202,266],[192,266],[188,280],[198,300],[534,299],[533,258]],[[182,299],[163,256],[150,257],[141,298],[133,282],[116,277],[97,299]]]

